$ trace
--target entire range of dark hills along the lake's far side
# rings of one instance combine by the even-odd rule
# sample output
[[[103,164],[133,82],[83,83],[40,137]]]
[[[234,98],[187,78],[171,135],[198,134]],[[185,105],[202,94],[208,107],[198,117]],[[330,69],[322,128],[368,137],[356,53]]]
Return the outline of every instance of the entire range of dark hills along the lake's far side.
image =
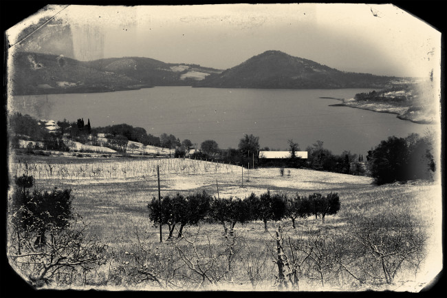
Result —
[[[78,61],[63,55],[17,52],[12,56],[14,95],[112,92],[153,86],[264,89],[384,88],[395,77],[342,72],[309,59],[269,50],[217,70],[127,56]]]

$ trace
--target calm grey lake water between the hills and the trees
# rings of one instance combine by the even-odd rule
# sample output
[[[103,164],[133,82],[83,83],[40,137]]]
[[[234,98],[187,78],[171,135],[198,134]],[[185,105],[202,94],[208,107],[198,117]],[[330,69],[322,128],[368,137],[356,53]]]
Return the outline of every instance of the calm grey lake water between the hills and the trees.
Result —
[[[389,136],[424,134],[427,127],[394,114],[330,107],[372,89],[219,89],[154,87],[124,92],[15,96],[11,109],[38,119],[90,119],[92,127],[127,123],[154,136],[166,132],[180,140],[212,139],[221,149],[237,148],[243,134],[259,136],[261,147],[302,150],[316,140],[333,153],[366,156]],[[434,127],[433,127],[434,128]]]

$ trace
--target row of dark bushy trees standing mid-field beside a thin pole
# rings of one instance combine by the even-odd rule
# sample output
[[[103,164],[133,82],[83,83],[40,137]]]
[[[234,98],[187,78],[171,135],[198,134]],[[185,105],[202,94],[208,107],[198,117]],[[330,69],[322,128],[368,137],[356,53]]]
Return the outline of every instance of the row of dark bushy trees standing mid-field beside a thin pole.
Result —
[[[287,197],[285,194],[270,191],[256,195],[252,193],[248,198],[212,198],[205,191],[191,195],[177,193],[175,196],[165,195],[159,202],[153,198],[147,205],[149,218],[155,224],[167,224],[169,228],[168,239],[173,237],[175,226],[179,226],[177,237],[182,237],[186,224],[197,224],[201,220],[215,222],[223,225],[225,235],[228,230],[232,234],[237,222],[244,224],[250,221],[261,220],[265,232],[268,231],[269,221],[278,221],[285,218],[295,220],[314,215],[320,216],[325,222],[326,215],[334,215],[340,210],[340,198],[337,193],[324,196],[313,193],[307,197],[296,194]]]

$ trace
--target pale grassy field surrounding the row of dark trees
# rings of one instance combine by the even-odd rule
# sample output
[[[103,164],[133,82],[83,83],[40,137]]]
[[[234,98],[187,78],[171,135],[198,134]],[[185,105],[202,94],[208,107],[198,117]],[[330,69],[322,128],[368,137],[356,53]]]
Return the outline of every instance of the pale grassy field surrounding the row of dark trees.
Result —
[[[161,193],[166,195],[177,192],[207,191],[213,196],[219,195],[220,198],[245,198],[250,193],[260,194],[268,189],[274,193],[286,193],[287,195],[298,193],[301,196],[314,192],[320,192],[323,195],[336,192],[340,195],[340,211],[337,215],[327,217],[325,224],[322,224],[320,219],[314,220],[312,217],[300,220],[296,229],[293,229],[291,222],[287,220],[269,222],[269,233],[263,233],[262,222],[237,224],[235,226],[237,237],[232,238],[233,248],[235,248],[233,256],[228,255],[230,244],[222,236],[223,228],[219,224],[186,226],[184,235],[185,239],[190,242],[184,240],[183,242],[159,243],[159,230],[149,221],[146,207],[151,198],[157,197],[156,176],[90,180],[36,179],[36,187],[38,189],[54,187],[72,189],[74,210],[83,217],[85,222],[89,223],[87,237],[97,236],[100,241],[109,244],[113,262],[110,262],[107,268],[102,268],[97,275],[89,277],[92,280],[91,286],[97,288],[109,288],[113,284],[112,281],[118,288],[126,283],[131,284],[129,280],[116,281],[111,277],[123,278],[122,274],[118,274],[120,270],[129,270],[123,264],[134,264],[135,259],[132,256],[138,255],[143,249],[151,252],[146,253],[146,257],[149,258],[146,259],[146,262],[155,262],[154,264],[157,264],[158,268],[164,268],[160,276],[164,273],[171,274],[173,268],[178,264],[170,263],[173,261],[167,256],[176,251],[175,246],[178,251],[184,248],[188,252],[195,251],[197,248],[202,252],[202,256],[206,255],[213,260],[210,262],[213,264],[212,268],[209,268],[210,276],[215,274],[215,279],[218,280],[218,276],[220,279],[215,284],[210,282],[208,289],[272,290],[278,270],[274,264],[276,257],[274,231],[279,224],[283,227],[284,239],[290,237],[289,239],[292,241],[299,241],[303,237],[313,235],[312,233],[315,231],[320,231],[324,235],[347,235],[351,233],[352,223],[375,220],[378,217],[408,219],[417,223],[417,228],[421,229],[428,237],[426,266],[419,270],[416,277],[414,275],[408,277],[410,273],[408,275],[402,273],[402,276],[400,275],[393,284],[388,286],[380,284],[353,285],[348,281],[337,281],[334,278],[332,282],[322,286],[318,279],[314,280],[309,275],[301,279],[299,289],[364,290],[373,288],[382,290],[387,288],[415,291],[420,290],[440,269],[441,188],[435,182],[375,186],[371,184],[372,179],[368,177],[307,169],[290,169],[290,171],[286,169],[283,177],[277,168],[252,169],[250,171],[244,169],[243,179],[241,172],[240,167],[235,167],[232,172],[210,172],[197,175],[174,175],[161,171]],[[217,193],[217,188],[219,193]],[[166,240],[167,227],[163,226],[163,229],[163,238]],[[189,250],[186,249],[188,247]],[[158,259],[157,252],[164,255],[164,261]],[[204,252],[208,252],[208,254]],[[221,255],[216,255],[219,252]],[[214,259],[212,255],[215,255]],[[186,260],[193,261],[195,257],[197,258],[197,255],[190,254],[186,256]],[[223,264],[226,264],[230,257],[233,257],[231,277],[228,275],[228,268],[223,270]],[[214,263],[217,260],[219,263]],[[176,262],[182,262],[178,255]],[[186,262],[184,261],[182,264],[183,266],[179,266],[179,271],[186,270],[184,268]],[[182,274],[186,275],[186,273]],[[189,286],[195,287],[196,284],[199,284],[198,281],[195,281],[193,273],[188,274],[191,275],[188,277],[191,279]],[[108,286],[101,286],[98,280],[101,279],[100,276],[105,279],[106,275],[109,281]],[[129,274],[126,276],[129,277]],[[165,279],[168,280],[168,277]],[[329,280],[329,277],[327,279]],[[157,285],[146,282],[135,285],[133,288],[152,289],[154,286]]]

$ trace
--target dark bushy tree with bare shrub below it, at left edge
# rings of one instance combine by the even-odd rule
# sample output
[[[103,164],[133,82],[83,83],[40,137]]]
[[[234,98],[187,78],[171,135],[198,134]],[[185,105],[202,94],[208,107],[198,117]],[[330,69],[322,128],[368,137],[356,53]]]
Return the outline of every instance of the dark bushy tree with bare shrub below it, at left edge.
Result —
[[[26,273],[24,278],[36,286],[48,284],[55,275],[63,278],[76,270],[89,270],[105,263],[107,246],[87,241],[85,224],[72,211],[72,190],[30,189],[32,176],[15,178],[10,196],[10,241],[8,257],[13,266]]]

